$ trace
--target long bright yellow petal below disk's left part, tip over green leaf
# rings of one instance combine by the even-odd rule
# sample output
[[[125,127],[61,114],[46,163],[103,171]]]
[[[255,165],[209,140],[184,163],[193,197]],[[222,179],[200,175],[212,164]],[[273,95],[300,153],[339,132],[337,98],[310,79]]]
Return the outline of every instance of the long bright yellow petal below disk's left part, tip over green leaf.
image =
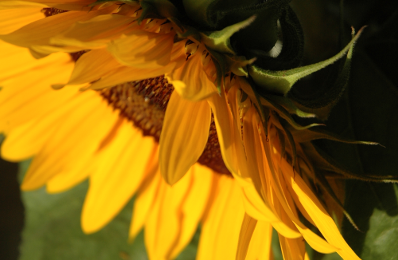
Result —
[[[82,228],[92,233],[111,221],[134,195],[147,174],[154,144],[142,137],[131,122],[120,126],[117,136],[103,149],[82,210]],[[137,152],[139,151],[139,152]]]

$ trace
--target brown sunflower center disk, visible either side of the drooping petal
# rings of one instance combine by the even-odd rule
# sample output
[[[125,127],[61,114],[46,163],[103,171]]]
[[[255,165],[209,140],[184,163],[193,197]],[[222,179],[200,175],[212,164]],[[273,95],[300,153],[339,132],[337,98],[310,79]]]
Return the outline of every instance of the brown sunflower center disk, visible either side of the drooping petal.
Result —
[[[140,128],[143,135],[152,136],[158,142],[166,107],[173,91],[173,85],[169,84],[166,78],[160,76],[106,88],[101,90],[101,95],[110,106],[119,110],[120,116]],[[221,156],[213,116],[209,139],[198,162],[218,173],[230,175]]]

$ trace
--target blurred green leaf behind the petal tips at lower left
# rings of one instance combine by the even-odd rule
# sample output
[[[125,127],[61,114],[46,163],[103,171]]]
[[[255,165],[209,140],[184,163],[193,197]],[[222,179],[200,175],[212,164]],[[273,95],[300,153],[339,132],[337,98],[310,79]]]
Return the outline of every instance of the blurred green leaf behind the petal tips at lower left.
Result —
[[[132,203],[101,231],[86,235],[80,214],[88,183],[60,194],[22,193],[26,211],[20,260],[147,259],[141,233],[128,244]],[[123,258],[128,256],[128,258]]]

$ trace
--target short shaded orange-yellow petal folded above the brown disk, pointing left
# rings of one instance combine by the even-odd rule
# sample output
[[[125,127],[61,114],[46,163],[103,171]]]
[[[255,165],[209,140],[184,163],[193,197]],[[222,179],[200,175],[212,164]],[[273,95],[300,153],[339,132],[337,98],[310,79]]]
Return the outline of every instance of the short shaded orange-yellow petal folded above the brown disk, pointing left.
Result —
[[[126,66],[140,69],[160,68],[170,62],[174,33],[149,33],[136,30],[112,41],[108,50]]]

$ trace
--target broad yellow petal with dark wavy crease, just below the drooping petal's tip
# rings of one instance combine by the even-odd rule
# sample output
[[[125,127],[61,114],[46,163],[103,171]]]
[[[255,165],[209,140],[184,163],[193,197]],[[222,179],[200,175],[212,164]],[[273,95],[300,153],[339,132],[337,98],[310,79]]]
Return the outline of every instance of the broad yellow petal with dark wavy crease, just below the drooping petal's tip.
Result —
[[[173,187],[161,185],[145,225],[150,259],[174,259],[191,241],[208,204],[213,173],[194,165]]]

